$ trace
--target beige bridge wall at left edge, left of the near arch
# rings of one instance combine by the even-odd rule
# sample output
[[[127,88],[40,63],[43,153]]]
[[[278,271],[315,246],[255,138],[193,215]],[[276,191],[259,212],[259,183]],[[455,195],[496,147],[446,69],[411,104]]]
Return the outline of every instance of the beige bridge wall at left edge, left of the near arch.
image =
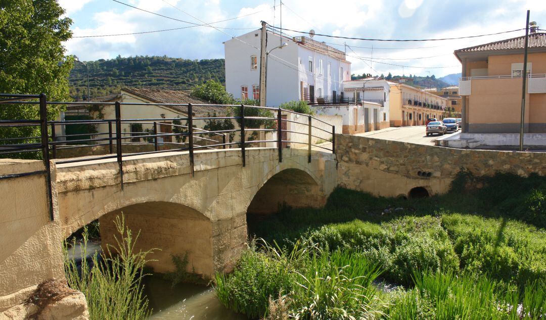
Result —
[[[0,176],[41,170],[44,170],[41,161],[0,159]],[[55,171],[52,175],[55,177]],[[49,278],[64,279],[61,252],[64,238],[57,211],[56,221],[50,221],[45,175],[2,179],[0,194],[2,312],[21,304],[38,283]]]

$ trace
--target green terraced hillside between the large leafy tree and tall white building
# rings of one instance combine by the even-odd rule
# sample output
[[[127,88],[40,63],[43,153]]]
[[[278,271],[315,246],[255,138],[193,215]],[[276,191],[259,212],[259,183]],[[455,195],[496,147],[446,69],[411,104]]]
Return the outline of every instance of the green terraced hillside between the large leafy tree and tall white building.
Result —
[[[166,56],[128,57],[86,61],[89,67],[90,96],[119,92],[121,87],[157,87],[190,90],[194,85],[214,79],[225,83],[223,59],[187,60]],[[68,78],[70,96],[87,97],[86,68],[78,62]]]

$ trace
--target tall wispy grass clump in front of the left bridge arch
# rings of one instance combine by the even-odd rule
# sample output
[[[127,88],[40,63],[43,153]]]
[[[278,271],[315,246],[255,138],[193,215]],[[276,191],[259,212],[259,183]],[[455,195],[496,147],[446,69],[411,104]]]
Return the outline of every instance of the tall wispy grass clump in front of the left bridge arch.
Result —
[[[91,266],[86,260],[87,230],[84,230],[81,244],[73,240],[73,256],[74,248],[82,246],[81,270],[75,257],[69,258],[69,244],[64,243],[64,269],[68,285],[84,293],[91,320],[146,319],[150,310],[141,281],[145,276],[146,256],[151,251],[135,252],[138,234],[133,236],[131,230],[126,228],[123,216],[116,217],[115,225],[118,232],[116,245],[106,248],[102,262],[99,262],[97,252],[94,253]]]

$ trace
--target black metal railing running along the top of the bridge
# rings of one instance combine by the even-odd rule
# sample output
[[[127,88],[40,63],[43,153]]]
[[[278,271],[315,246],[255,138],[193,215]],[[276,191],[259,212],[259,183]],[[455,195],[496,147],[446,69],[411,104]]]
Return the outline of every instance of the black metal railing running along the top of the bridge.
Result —
[[[51,173],[50,173],[50,159],[56,159],[57,153],[63,149],[72,149],[80,147],[96,147],[96,146],[108,146],[109,153],[106,155],[92,155],[79,158],[66,158],[57,159],[55,163],[75,163],[84,161],[93,161],[99,159],[111,159],[115,158],[120,172],[120,182],[123,188],[123,158],[127,156],[146,155],[151,153],[173,152],[173,151],[187,151],[189,162],[191,166],[191,174],[194,173],[194,151],[204,149],[227,149],[227,148],[239,148],[241,152],[242,165],[246,165],[246,148],[252,145],[272,143],[276,144],[278,149],[278,161],[282,162],[283,148],[288,147],[288,144],[301,144],[307,146],[308,162],[311,162],[311,150],[312,147],[318,147],[319,149],[326,150],[335,153],[335,126],[330,125],[327,122],[319,120],[316,117],[307,114],[300,114],[291,110],[285,110],[281,108],[269,108],[263,106],[254,105],[195,105],[195,104],[159,104],[159,103],[121,103],[121,102],[87,102],[86,105],[100,105],[100,106],[113,106],[115,110],[115,117],[108,119],[89,119],[89,120],[48,120],[48,107],[58,108],[63,105],[81,105],[81,102],[49,102],[46,100],[45,94],[5,94],[0,93],[0,108],[11,106],[11,108],[25,107],[35,108],[34,111],[39,110],[39,119],[0,119],[0,134],[4,137],[0,137],[0,157],[5,158],[7,155],[17,154],[19,157],[22,153],[34,152],[36,156],[41,157],[45,164],[45,170],[35,171],[31,173],[20,173],[0,176],[2,179],[13,179],[15,177],[44,174],[48,182],[48,192],[50,198],[50,218],[53,220],[53,207],[52,207],[52,191],[51,191]],[[180,111],[182,114],[186,113],[185,117],[177,118],[122,118],[122,107],[129,105],[130,108],[138,108],[138,106],[171,106],[176,107],[177,110],[185,109],[185,112]],[[224,109],[223,116],[195,116],[194,107],[214,108],[215,110]],[[245,110],[265,110],[268,112],[262,112],[259,116],[250,116],[250,114],[259,114],[259,112],[247,112]],[[235,115],[229,115],[232,111]],[[12,110],[13,111],[13,110]],[[13,114],[13,112],[12,112]],[[283,115],[295,114],[300,117],[307,117],[307,123],[300,123],[288,118],[283,118]],[[265,115],[265,116],[264,116]],[[170,122],[169,122],[170,121]],[[173,124],[174,121],[185,121],[185,125]],[[204,128],[199,128],[199,125],[203,125],[207,121],[230,121],[233,123],[233,128],[220,129],[214,131],[207,131]],[[198,123],[199,122],[199,123]],[[268,125],[257,125],[257,123],[268,123]],[[235,123],[239,125],[239,128],[235,127]],[[306,125],[306,132],[298,132],[288,129],[288,123],[297,123],[299,125]],[[122,127],[131,125],[139,125],[139,128],[144,125],[149,126],[148,131],[133,131],[124,132]],[[255,128],[252,128],[254,124]],[[320,124],[322,127],[318,127]],[[98,127],[102,125],[105,128],[104,132],[87,132],[78,134],[57,134],[56,128],[66,126],[93,126]],[[21,135],[21,128],[39,127],[39,135],[25,137]],[[298,126],[296,126],[298,127]],[[326,129],[324,129],[326,128]],[[330,130],[331,128],[331,130]],[[323,132],[323,136],[319,137],[318,133],[313,134],[313,129],[318,132]],[[174,132],[173,132],[174,131]],[[31,131],[37,132],[37,131]],[[267,134],[264,134],[264,139],[247,140],[247,133],[276,133],[270,135],[271,139],[268,139]],[[228,137],[239,134],[238,141],[232,141]],[[288,139],[288,133],[306,135],[307,141],[295,141]],[[325,136],[325,135],[328,135]],[[331,136],[331,138],[330,138]],[[215,140],[213,138],[217,138]],[[313,144],[313,138],[328,140],[331,139],[331,148],[324,145]],[[145,139],[147,143],[153,144],[153,151],[142,152],[123,152],[123,147],[134,145],[136,139],[137,144],[141,144],[140,140]],[[176,140],[176,142],[173,141]],[[235,137],[234,137],[235,139]],[[78,144],[78,145],[74,145]]]

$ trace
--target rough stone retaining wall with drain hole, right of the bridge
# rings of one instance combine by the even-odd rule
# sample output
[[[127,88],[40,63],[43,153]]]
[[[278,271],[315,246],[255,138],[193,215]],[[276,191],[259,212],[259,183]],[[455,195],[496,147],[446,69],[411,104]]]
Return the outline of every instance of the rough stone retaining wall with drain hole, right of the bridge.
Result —
[[[462,150],[354,135],[336,135],[339,184],[375,195],[407,195],[414,187],[445,193],[461,168],[474,175],[497,171],[546,174],[546,153]]]

